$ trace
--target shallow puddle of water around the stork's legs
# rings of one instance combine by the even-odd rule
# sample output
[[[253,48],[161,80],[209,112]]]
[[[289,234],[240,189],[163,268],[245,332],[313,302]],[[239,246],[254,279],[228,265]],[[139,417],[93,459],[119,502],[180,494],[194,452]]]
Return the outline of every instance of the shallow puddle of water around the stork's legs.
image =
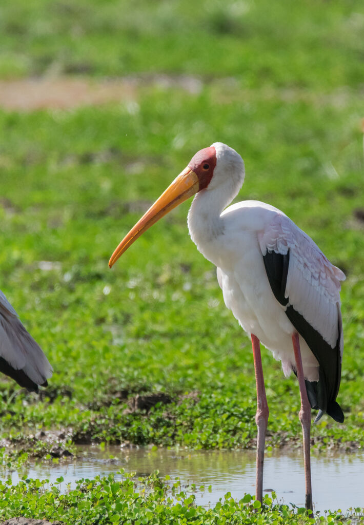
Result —
[[[137,475],[155,470],[181,485],[204,484],[205,492],[197,491],[198,505],[213,506],[227,492],[240,499],[244,492],[255,493],[255,454],[250,450],[186,451],[166,449],[123,449],[117,446],[80,447],[82,460],[61,460],[58,465],[34,465],[26,472],[13,472],[16,483],[24,474],[29,478],[49,479],[56,483],[59,476],[74,487],[76,480],[116,473],[120,468]],[[114,456],[110,459],[110,455]],[[4,478],[4,475],[1,477]],[[120,478],[116,475],[115,478]],[[350,507],[364,506],[364,452],[351,454],[325,453],[312,456],[314,510],[345,512]],[[207,490],[211,485],[211,492]],[[266,454],[263,490],[274,490],[280,502],[304,506],[305,484],[301,451]]]

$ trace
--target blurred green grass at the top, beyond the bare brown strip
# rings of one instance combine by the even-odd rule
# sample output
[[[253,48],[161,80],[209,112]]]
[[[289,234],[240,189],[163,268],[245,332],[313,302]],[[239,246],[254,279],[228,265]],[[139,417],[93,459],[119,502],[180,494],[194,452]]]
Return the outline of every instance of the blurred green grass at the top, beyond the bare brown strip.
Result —
[[[360,0],[15,0],[0,15],[3,76],[182,72],[325,91],[364,78]]]

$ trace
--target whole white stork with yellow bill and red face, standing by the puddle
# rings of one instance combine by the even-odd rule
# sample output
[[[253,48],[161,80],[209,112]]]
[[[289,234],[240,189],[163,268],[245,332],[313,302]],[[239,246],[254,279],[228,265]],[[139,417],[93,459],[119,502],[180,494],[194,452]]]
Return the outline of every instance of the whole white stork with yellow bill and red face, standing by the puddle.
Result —
[[[339,291],[345,275],[279,209],[258,201],[224,209],[243,180],[243,160],[232,148],[216,142],[200,150],[121,241],[109,266],[149,226],[197,193],[188,213],[189,234],[198,250],[216,265],[226,306],[252,340],[258,401],[256,498],[262,501],[269,415],[261,341],[282,361],[285,375],[293,371],[298,377],[306,508],[312,510],[311,407],[319,409],[316,421],[324,412],[344,421],[336,397],[343,350]]]

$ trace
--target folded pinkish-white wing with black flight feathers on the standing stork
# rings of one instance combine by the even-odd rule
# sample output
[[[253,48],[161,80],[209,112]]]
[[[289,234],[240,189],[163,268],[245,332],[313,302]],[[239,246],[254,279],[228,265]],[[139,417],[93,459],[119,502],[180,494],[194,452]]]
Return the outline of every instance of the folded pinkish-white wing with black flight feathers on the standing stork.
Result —
[[[311,405],[344,421],[336,397],[343,351],[340,281],[345,275],[283,214],[272,218],[259,243],[272,291],[319,363],[318,382],[306,381]]]

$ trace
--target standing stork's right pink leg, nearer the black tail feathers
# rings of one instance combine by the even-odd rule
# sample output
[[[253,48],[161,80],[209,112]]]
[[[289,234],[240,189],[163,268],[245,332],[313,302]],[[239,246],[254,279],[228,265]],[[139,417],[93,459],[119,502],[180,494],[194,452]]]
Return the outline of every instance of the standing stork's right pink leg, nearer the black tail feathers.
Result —
[[[299,421],[302,425],[303,434],[303,457],[305,464],[305,482],[306,482],[306,509],[313,510],[312,507],[312,487],[311,487],[311,459],[310,459],[310,443],[309,432],[311,428],[311,405],[309,404],[305,376],[303,373],[301,350],[299,348],[299,336],[295,332],[292,334],[292,342],[294,349],[294,356],[296,360],[297,378],[299,385],[299,393],[301,394],[301,410],[299,411]]]

